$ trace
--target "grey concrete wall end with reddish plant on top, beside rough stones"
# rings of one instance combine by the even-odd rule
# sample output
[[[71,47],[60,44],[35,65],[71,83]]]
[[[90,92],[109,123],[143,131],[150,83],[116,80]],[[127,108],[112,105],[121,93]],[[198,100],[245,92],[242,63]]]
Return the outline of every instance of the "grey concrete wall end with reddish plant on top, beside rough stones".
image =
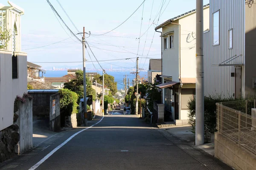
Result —
[[[33,119],[32,100],[26,99],[25,103],[17,102],[19,115],[17,125],[20,127],[20,142],[18,143],[18,154],[25,153],[33,147]]]

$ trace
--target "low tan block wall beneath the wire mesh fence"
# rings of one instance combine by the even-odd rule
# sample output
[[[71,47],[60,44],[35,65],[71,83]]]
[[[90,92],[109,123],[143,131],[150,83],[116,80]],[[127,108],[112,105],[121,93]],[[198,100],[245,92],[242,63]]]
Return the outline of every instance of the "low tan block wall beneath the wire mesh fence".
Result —
[[[255,170],[256,155],[250,153],[237,143],[215,132],[214,137],[214,156],[236,170]]]

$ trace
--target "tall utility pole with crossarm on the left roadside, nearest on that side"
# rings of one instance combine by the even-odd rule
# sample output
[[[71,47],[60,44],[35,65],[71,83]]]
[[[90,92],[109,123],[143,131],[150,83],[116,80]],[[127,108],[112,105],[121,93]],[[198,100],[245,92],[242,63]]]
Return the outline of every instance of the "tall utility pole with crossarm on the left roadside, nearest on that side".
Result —
[[[85,76],[85,38],[82,37],[83,44],[83,74],[84,74],[84,126],[87,126],[87,100],[86,100],[86,76]]]

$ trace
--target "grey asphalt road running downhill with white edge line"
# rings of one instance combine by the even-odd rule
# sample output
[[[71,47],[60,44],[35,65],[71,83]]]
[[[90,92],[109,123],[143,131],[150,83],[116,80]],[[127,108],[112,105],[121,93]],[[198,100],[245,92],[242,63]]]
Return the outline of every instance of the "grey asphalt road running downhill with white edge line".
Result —
[[[119,112],[122,110],[109,113],[58,150],[55,148],[84,128],[67,131],[37,154],[30,151],[34,155],[15,169],[28,170],[39,162],[36,170],[207,170],[138,116]],[[52,150],[55,152],[47,156]],[[15,161],[20,160],[11,163]]]

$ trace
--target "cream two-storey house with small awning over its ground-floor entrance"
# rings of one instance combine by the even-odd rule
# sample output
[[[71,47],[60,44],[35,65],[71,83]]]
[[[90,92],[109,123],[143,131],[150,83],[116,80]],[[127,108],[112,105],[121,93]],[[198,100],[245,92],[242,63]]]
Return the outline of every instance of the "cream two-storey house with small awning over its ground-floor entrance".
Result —
[[[162,31],[157,31],[162,28]],[[204,6],[204,30],[209,28],[209,4]],[[165,121],[188,123],[187,103],[195,95],[195,9],[173,17],[155,28],[162,44],[162,103]]]

